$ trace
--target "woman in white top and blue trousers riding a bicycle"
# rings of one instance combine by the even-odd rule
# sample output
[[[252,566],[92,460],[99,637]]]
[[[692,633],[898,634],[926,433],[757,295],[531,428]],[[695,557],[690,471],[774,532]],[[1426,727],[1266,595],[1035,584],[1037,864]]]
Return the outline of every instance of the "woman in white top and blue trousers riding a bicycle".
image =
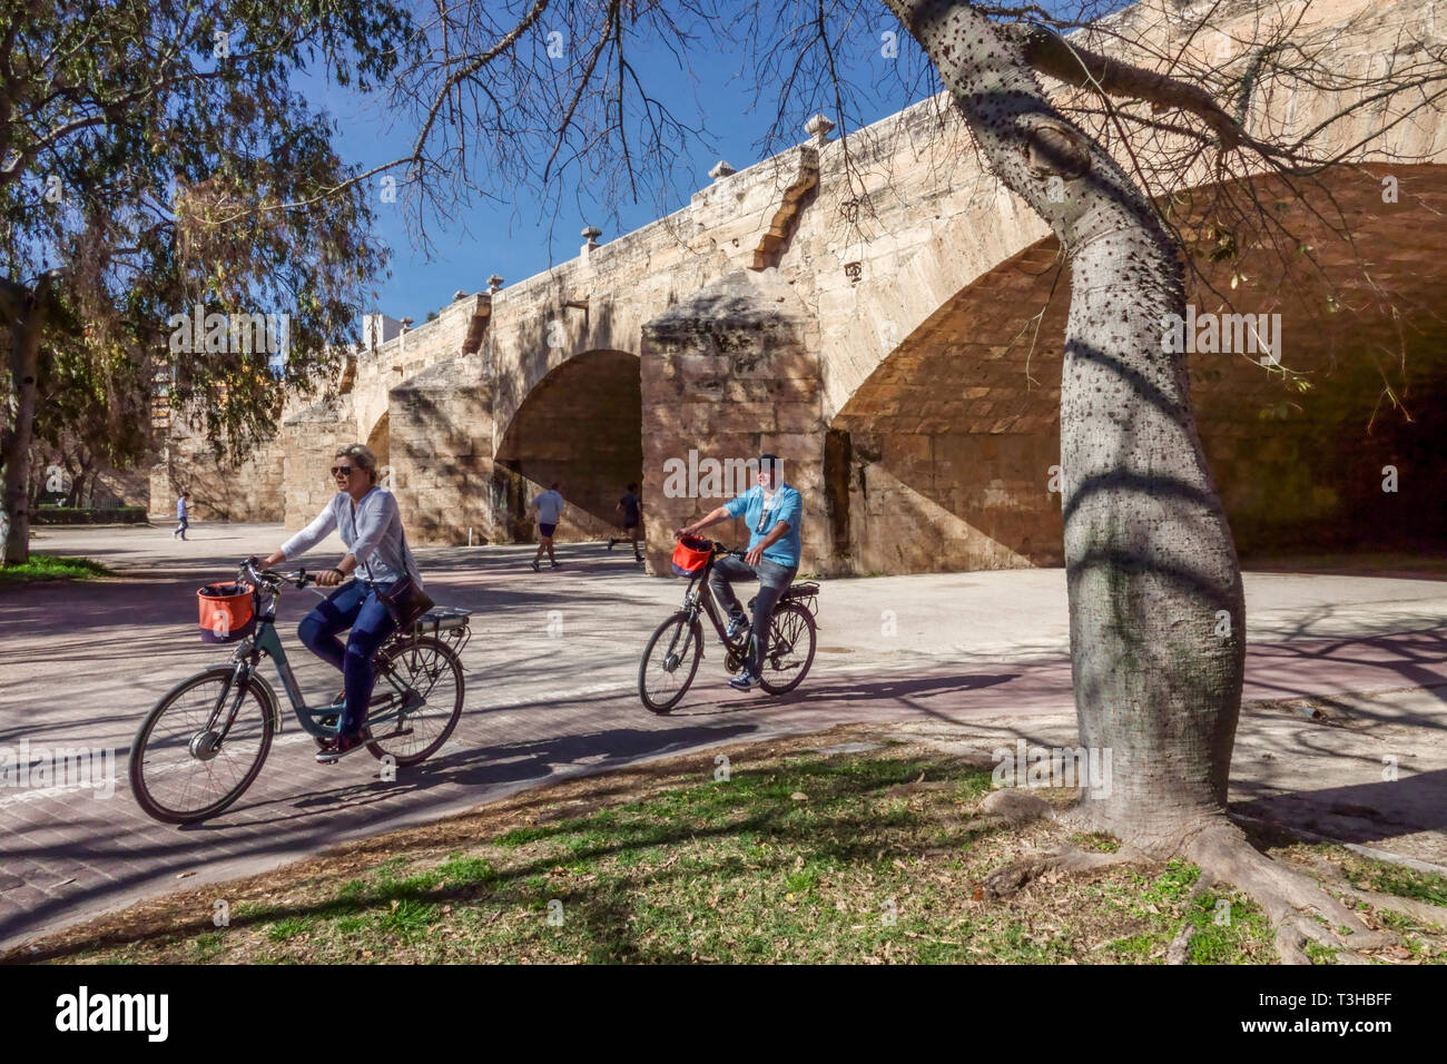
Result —
[[[346,556],[336,567],[317,573],[324,588],[341,583],[359,567],[362,576],[339,588],[326,602],[302,620],[297,636],[317,657],[341,670],[346,680],[346,706],[334,743],[317,754],[323,763],[336,761],[363,746],[368,704],[372,701],[372,656],[396,628],[382,595],[398,580],[411,579],[420,589],[421,573],[402,536],[402,515],[392,492],[376,486],[376,455],[360,443],[337,450],[331,476],[337,495],[315,521],[287,540],[266,559],[266,567],[289,562],[321,543],[333,528],[346,544]],[[352,630],[346,647],[337,633]]]

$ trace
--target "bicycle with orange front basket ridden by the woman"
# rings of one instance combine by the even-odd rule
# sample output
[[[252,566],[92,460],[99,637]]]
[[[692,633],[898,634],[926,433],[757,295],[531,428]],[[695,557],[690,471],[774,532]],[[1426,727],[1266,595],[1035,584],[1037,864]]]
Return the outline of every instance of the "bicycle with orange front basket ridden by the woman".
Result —
[[[252,560],[237,583],[247,596],[245,631],[226,630],[217,615],[211,641],[240,638],[226,664],[211,666],[174,686],[136,730],[130,744],[130,788],[136,803],[168,824],[216,816],[256,779],[281,728],[276,692],[260,675],[262,657],[276,666],[282,691],[302,730],[324,746],[336,737],[344,698],[307,704],[276,633],[276,599],[284,585],[305,588],[305,569],[278,573]],[[378,760],[417,764],[437,753],[462,717],[462,649],[472,636],[470,609],[434,607],[412,627],[395,631],[372,657],[376,691],[368,709],[366,748]]]

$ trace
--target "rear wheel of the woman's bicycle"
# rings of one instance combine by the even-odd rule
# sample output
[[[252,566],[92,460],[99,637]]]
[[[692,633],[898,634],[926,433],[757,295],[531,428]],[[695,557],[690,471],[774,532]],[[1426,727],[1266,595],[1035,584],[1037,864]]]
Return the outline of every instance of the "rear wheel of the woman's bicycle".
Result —
[[[376,682],[378,689],[392,693],[391,705],[395,705],[399,696],[386,670],[421,695],[423,702],[369,728],[366,748],[378,760],[391,754],[398,764],[417,764],[437,753],[462,719],[462,662],[451,647],[433,636],[394,643],[376,657]]]

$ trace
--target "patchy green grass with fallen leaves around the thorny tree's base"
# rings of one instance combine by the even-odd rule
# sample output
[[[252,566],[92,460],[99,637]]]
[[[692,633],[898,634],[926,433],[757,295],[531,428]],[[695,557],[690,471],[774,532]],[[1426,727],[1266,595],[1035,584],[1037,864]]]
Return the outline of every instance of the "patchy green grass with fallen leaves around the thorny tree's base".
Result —
[[[1124,963],[1160,964],[1192,931],[1195,964],[1275,963],[1262,911],[1198,890],[1187,861],[1046,876],[1006,899],[984,877],[1062,843],[1108,835],[981,815],[990,772],[945,756],[735,759],[666,785],[615,789],[609,808],[534,803],[232,906],[232,925],[78,951],[195,963]],[[926,782],[915,786],[916,782]],[[605,780],[606,777],[599,777]],[[945,783],[946,786],[939,786]],[[605,789],[605,783],[599,783]],[[622,790],[619,795],[618,790]],[[1069,796],[1053,795],[1064,802]],[[631,801],[629,801],[631,799]],[[596,805],[596,802],[586,802]],[[530,822],[531,821],[531,822]],[[1363,886],[1431,899],[1433,877],[1351,857]],[[285,902],[272,900],[285,896]],[[1411,957],[1440,932],[1392,921]],[[1435,934],[1435,937],[1433,937]],[[1324,963],[1331,951],[1315,951]]]

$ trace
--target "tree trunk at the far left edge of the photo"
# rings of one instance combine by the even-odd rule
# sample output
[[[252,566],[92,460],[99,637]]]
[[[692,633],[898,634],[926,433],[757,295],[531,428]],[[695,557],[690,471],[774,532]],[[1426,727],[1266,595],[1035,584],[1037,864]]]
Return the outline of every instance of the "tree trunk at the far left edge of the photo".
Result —
[[[30,560],[30,440],[35,436],[36,372],[49,275],[33,292],[10,301],[10,389],[14,421],[0,444],[4,486],[0,491],[0,524],[4,525],[0,566]]]

